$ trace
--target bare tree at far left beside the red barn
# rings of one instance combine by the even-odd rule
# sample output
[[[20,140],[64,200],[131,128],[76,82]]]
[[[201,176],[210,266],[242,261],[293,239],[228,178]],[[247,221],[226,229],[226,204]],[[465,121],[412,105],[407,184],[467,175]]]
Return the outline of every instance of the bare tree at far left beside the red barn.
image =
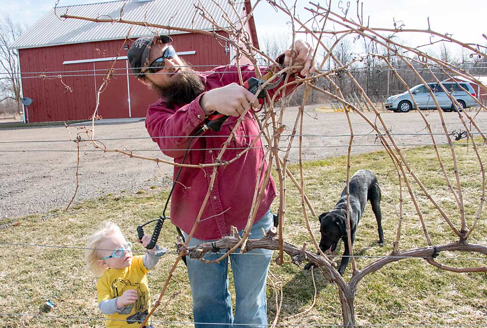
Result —
[[[22,34],[22,27],[8,15],[0,21],[0,101],[13,100],[20,111],[19,53],[9,46]]]

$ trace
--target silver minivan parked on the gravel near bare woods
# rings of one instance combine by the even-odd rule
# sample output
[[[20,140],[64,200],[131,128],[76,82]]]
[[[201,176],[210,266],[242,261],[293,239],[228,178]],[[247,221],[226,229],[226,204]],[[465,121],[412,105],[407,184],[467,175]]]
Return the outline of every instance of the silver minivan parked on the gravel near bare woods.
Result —
[[[458,101],[462,108],[473,107],[477,105],[475,101],[475,91],[472,86],[464,82],[441,82],[444,88],[451,93],[451,95]],[[456,111],[457,108],[448,97],[447,93],[438,83],[428,83],[431,90],[434,93],[438,105],[444,112]],[[468,93],[463,91],[461,87],[468,90]],[[419,84],[411,88],[412,96],[418,104],[419,109],[436,109],[436,105],[431,97],[428,89],[424,84]],[[386,109],[394,112],[407,113],[413,109],[413,102],[409,92],[402,93],[400,95],[390,96],[385,102]],[[460,111],[462,110],[460,108]]]

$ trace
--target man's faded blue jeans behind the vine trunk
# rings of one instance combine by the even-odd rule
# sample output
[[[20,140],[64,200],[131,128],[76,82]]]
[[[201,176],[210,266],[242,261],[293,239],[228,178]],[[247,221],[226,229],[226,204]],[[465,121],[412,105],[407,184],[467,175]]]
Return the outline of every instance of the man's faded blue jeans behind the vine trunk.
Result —
[[[261,238],[262,228],[267,232],[273,224],[272,213],[269,210],[257,223],[254,223],[249,238]],[[242,236],[243,231],[239,233]],[[186,233],[184,236],[187,238]],[[191,238],[188,246],[206,242],[208,240]],[[235,253],[229,255],[235,285],[235,317],[228,291],[228,260],[225,258],[220,263],[206,264],[187,257],[195,328],[267,327],[265,284],[273,251],[258,249],[240,254],[240,249],[238,249]],[[221,255],[222,253],[207,253],[204,258],[215,260]],[[212,325],[212,323],[227,325]],[[233,326],[233,324],[239,325]],[[248,326],[248,324],[252,324],[252,326]]]

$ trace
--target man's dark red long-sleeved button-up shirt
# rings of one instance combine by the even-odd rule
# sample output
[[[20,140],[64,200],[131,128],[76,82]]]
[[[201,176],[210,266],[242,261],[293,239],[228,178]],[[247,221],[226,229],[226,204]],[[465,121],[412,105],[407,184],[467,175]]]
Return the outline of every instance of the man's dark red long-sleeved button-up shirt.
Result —
[[[262,72],[265,73],[265,70]],[[221,66],[198,75],[206,85],[206,91],[232,82],[239,83],[236,66]],[[244,81],[255,77],[253,67],[242,67],[242,77]],[[164,99],[160,98],[150,105],[147,112],[146,128],[149,135],[162,152],[174,158],[176,163],[181,163],[183,159],[189,141],[188,135],[193,134],[205,121],[205,113],[200,106],[202,95],[189,104],[176,105],[174,108],[168,108]],[[259,128],[252,116],[247,114],[246,117],[249,119],[245,119],[238,127],[222,160],[233,159],[259,134]],[[185,164],[213,163],[236,122],[237,117],[230,116],[220,132],[208,130],[203,137],[192,141]],[[262,173],[259,173],[264,158],[260,138],[254,147],[235,162],[218,168],[213,190],[206,202],[194,237],[202,240],[217,239],[228,235],[230,226],[235,226],[238,230],[244,229],[250,215],[257,179],[260,188],[267,169],[267,162],[265,162]],[[178,170],[179,167],[174,167],[173,178],[176,177]],[[203,204],[212,171],[213,167],[183,168],[178,178],[171,196],[171,222],[186,233],[191,231]],[[255,222],[269,209],[275,196],[276,186],[271,177],[262,194]]]

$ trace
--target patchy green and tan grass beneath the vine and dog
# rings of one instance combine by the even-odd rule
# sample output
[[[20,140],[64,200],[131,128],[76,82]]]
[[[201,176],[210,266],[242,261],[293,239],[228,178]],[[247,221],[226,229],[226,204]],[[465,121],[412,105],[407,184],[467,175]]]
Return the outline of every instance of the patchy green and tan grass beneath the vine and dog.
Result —
[[[485,146],[479,147],[482,158],[487,158]],[[460,183],[466,204],[466,217],[470,226],[480,202],[480,171],[472,148],[455,147]],[[451,152],[441,147],[452,185],[456,186],[453,175]],[[436,161],[433,150],[421,147],[404,151],[415,174],[421,179],[431,196],[437,200],[450,220],[459,229],[459,211]],[[305,191],[317,214],[332,209],[346,180],[346,157],[303,163]],[[299,166],[291,165],[290,170],[299,178]],[[353,156],[351,173],[358,169],[373,170],[381,186],[383,228],[385,245],[377,246],[375,218],[367,205],[358,227],[355,254],[365,256],[388,255],[392,251],[397,229],[398,178],[389,156],[376,152]],[[277,175],[274,175],[277,181]],[[434,244],[455,241],[450,227],[421,193],[419,186],[411,181]],[[306,242],[312,245],[305,227],[299,193],[292,182],[287,180],[287,198],[284,233],[285,239],[296,246]],[[151,187],[148,187],[150,190]],[[68,212],[52,211],[30,215],[20,219],[0,221],[0,240],[10,243],[41,245],[83,246],[88,235],[104,220],[116,222],[128,240],[136,239],[137,225],[161,214],[169,188],[160,192],[135,194],[122,193],[107,195],[75,205]],[[403,181],[403,225],[400,249],[427,246],[418,214]],[[274,203],[274,209],[278,204]],[[469,242],[487,245],[485,222],[486,205],[476,230]],[[309,214],[309,212],[308,212]],[[310,217],[310,224],[318,236],[318,220]],[[150,228],[148,228],[150,229]],[[167,222],[161,233],[159,244],[173,250],[176,233]],[[134,244],[135,245],[135,244]],[[135,251],[142,252],[140,244]],[[339,253],[343,246],[339,247]],[[445,252],[444,257],[486,258],[476,253]],[[149,272],[152,300],[155,301],[166,280],[175,255],[165,255],[156,268]],[[336,261],[338,261],[336,259]],[[360,270],[373,258],[357,258]],[[485,266],[486,261],[439,260],[441,263],[457,267]],[[283,303],[279,324],[341,324],[341,307],[337,287],[315,274],[318,297],[315,307],[308,313],[293,319],[283,319],[308,309],[313,302],[311,273],[302,267],[286,263],[282,266],[271,264],[271,271],[277,276],[283,290]],[[351,275],[351,264],[345,272]],[[316,272],[315,272],[316,273]],[[187,282],[186,268],[180,265],[169,284],[161,307],[156,310],[154,320],[191,321],[191,295]],[[96,279],[84,271],[83,251],[77,249],[40,248],[27,246],[3,246],[0,255],[1,312],[46,314],[56,316],[102,317],[96,305]],[[180,287],[181,286],[181,287]],[[181,288],[181,289],[180,289]],[[181,291],[175,298],[174,293]],[[268,317],[272,321],[276,314],[275,295],[268,287]],[[58,306],[48,311],[43,306],[47,297]],[[167,302],[169,303],[167,304]],[[166,305],[167,304],[167,305]],[[358,285],[355,300],[357,324],[484,324],[487,315],[487,279],[484,273],[453,273],[432,267],[422,259],[406,259],[388,265],[366,276]],[[2,327],[99,327],[103,321],[85,319],[46,319],[36,317],[0,316]],[[156,327],[186,327],[178,324],[156,324]]]

